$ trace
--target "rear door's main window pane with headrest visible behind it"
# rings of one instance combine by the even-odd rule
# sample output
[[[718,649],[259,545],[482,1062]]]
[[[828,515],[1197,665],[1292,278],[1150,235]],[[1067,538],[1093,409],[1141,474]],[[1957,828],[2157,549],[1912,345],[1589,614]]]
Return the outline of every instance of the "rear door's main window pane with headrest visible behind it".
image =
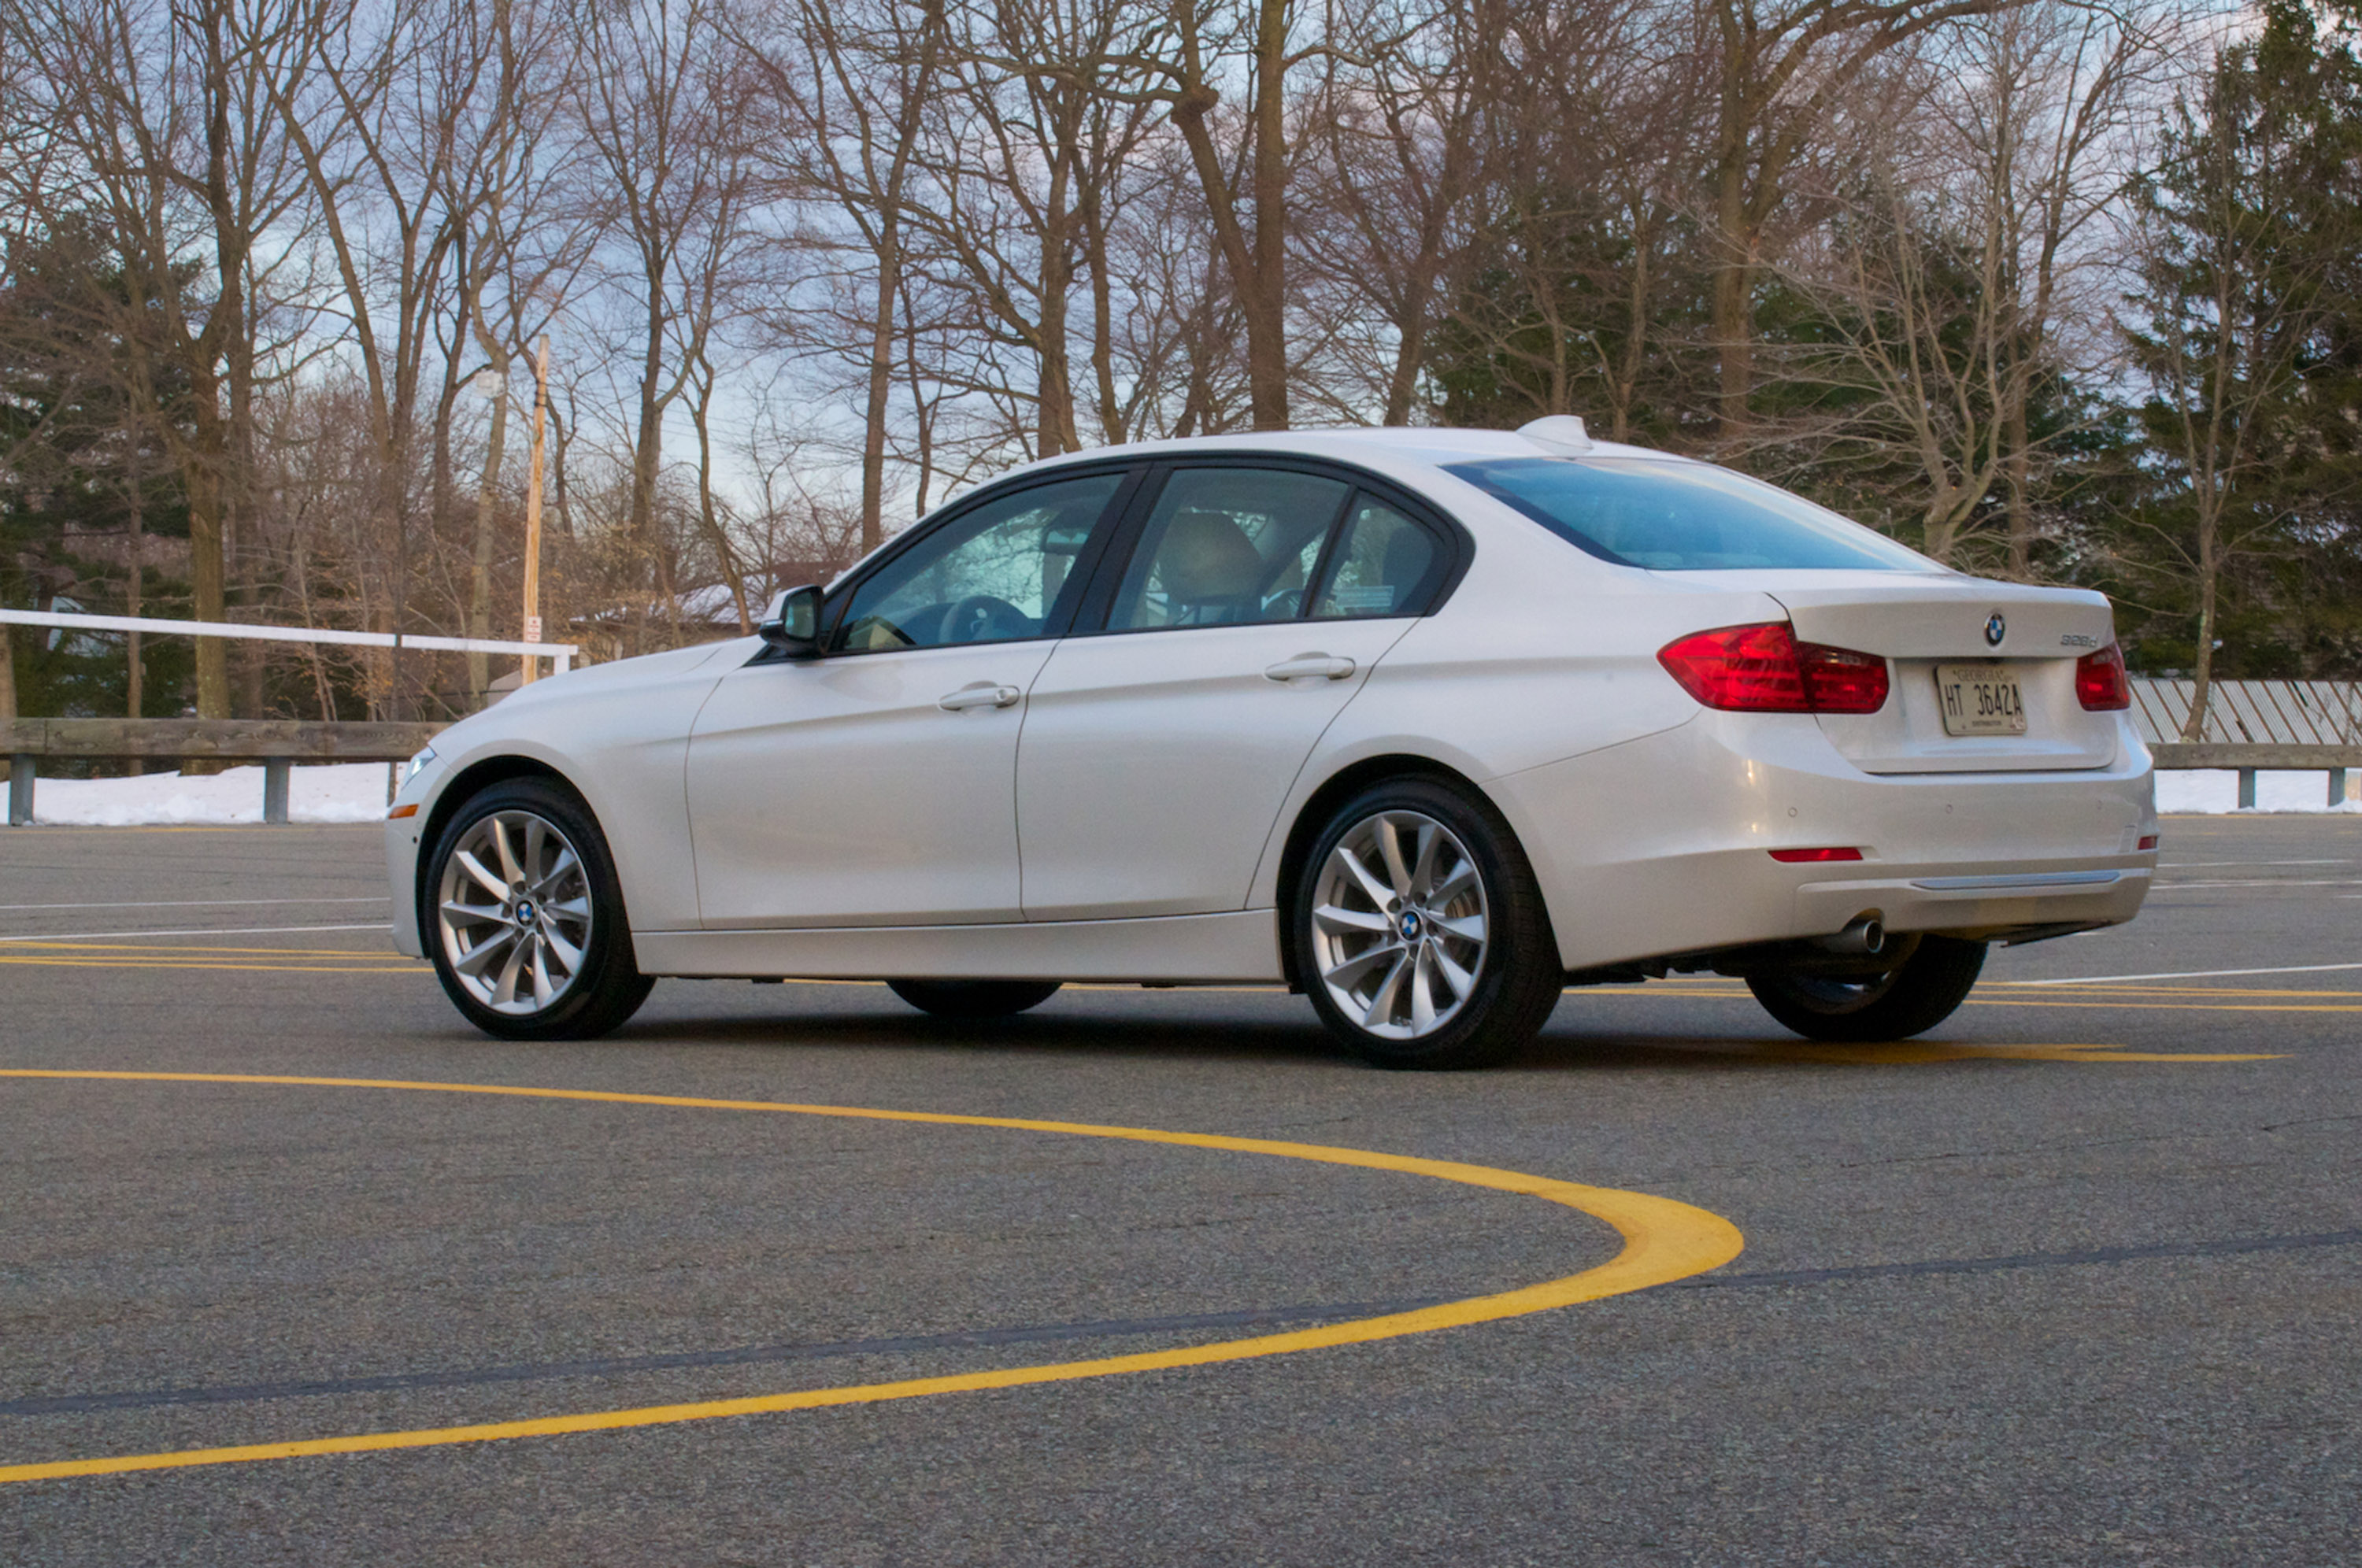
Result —
[[[1108,631],[1294,621],[1351,486],[1273,468],[1183,468],[1164,482]]]

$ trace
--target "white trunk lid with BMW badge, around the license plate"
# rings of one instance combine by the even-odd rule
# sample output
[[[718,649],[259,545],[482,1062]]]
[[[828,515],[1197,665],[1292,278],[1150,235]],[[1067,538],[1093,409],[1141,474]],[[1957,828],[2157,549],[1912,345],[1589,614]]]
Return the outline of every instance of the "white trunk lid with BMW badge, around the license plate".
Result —
[[[1864,772],[2010,772],[2107,767],[2114,713],[2088,713],[2074,666],[2114,640],[2107,600],[2081,588],[2027,588],[1972,576],[1897,571],[1757,574],[1805,642],[1885,654],[1892,694],[1878,713],[1823,713],[1821,732]],[[1998,633],[1998,638],[1994,635]],[[1998,666],[2017,678],[2024,734],[1951,734],[1939,666]]]

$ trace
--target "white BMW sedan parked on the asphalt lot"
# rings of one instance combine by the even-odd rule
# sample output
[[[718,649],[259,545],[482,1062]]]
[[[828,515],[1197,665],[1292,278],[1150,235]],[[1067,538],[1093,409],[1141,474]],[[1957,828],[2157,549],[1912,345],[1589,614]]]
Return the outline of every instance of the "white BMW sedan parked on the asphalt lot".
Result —
[[[581,1039],[657,975],[1275,982],[1462,1067],[1568,985],[1741,975],[1814,1039],[2128,921],[2149,756],[2095,593],[1769,484],[1521,432],[1023,468],[761,635],[536,682],[411,763],[397,945]]]

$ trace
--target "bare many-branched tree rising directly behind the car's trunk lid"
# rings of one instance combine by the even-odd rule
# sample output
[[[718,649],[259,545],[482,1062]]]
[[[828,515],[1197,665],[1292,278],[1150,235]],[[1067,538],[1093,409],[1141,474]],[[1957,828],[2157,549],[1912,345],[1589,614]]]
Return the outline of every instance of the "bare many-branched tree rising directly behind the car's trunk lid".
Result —
[[[1991,517],[2008,569],[2031,574],[2034,470],[2086,427],[2060,409],[2071,378],[2116,349],[2074,324],[2105,321],[2116,257],[2097,227],[2154,109],[2159,45],[2152,24],[2034,0],[1859,78],[1852,187],[1783,276],[1821,305],[1828,373],[1857,394],[1835,449],[1911,475],[1906,510],[1942,562],[1965,564]]]

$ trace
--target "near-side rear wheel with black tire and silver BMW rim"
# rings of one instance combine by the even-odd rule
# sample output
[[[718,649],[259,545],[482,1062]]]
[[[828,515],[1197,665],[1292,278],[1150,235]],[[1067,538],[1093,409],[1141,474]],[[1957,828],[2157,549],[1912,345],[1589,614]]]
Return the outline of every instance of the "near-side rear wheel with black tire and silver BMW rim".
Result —
[[[1379,822],[1394,822],[1394,831],[1408,831],[1415,845],[1424,836],[1420,819],[1446,829],[1457,841],[1455,848],[1464,850],[1464,867],[1474,869],[1474,897],[1450,893],[1462,881],[1457,874],[1431,871],[1422,890],[1417,874],[1424,860],[1412,864],[1408,850],[1396,855],[1410,871],[1408,878],[1382,864],[1379,881],[1396,893],[1391,907],[1377,900],[1370,883],[1332,876],[1339,845],[1353,841],[1382,848]],[[1325,886],[1344,902],[1323,904]],[[1361,895],[1353,893],[1356,886],[1363,888]],[[1361,902],[1370,909],[1361,909]],[[1316,909],[1327,909],[1320,928]],[[1389,930],[1339,926],[1346,916],[1368,921],[1370,914],[1384,914]],[[1408,930],[1405,914],[1417,916],[1408,921]],[[1469,928],[1469,916],[1483,930],[1481,945],[1460,935]],[[1542,888],[1516,834],[1488,801],[1441,779],[1386,779],[1339,805],[1297,867],[1287,921],[1297,975],[1320,1023],[1379,1067],[1457,1070],[1500,1063],[1540,1032],[1566,987]],[[1460,982],[1455,975],[1469,982],[1467,989],[1422,1030],[1410,1011],[1417,1006],[1415,992],[1424,982],[1431,999],[1450,994]],[[1398,1018],[1403,1011],[1410,1015]]]

